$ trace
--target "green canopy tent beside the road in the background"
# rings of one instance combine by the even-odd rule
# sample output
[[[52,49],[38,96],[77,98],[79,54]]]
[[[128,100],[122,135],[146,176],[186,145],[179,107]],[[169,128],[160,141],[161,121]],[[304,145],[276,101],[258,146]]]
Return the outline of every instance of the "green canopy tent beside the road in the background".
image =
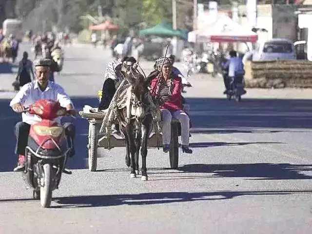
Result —
[[[177,36],[187,40],[187,37],[185,37],[185,33],[182,33],[179,30],[174,30],[172,26],[167,22],[161,22],[152,28],[141,30],[139,31],[139,35],[140,36],[155,35],[167,37]]]

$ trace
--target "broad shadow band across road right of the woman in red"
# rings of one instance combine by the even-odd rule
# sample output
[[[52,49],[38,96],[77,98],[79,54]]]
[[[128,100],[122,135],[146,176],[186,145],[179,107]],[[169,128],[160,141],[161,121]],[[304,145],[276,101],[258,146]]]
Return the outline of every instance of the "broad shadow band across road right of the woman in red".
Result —
[[[274,128],[312,128],[312,100],[308,99],[243,99],[237,103],[225,98],[186,98],[186,102],[195,133],[253,133],[246,128],[273,128],[268,133],[274,133]]]

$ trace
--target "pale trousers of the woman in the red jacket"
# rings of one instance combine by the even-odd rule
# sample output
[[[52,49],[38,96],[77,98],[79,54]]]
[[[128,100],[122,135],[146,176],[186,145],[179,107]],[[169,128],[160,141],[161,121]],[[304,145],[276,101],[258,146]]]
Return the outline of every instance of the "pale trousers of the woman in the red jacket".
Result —
[[[181,123],[181,143],[182,145],[189,145],[190,142],[190,118],[184,111],[170,112],[167,109],[161,110],[163,120],[162,125],[162,144],[169,145],[171,139],[171,120],[176,118]]]

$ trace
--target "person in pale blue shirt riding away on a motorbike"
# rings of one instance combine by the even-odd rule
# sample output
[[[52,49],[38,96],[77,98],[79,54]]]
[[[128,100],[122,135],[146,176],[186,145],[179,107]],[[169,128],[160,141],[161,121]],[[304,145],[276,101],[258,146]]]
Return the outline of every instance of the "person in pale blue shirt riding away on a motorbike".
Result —
[[[231,80],[241,83],[245,74],[244,65],[241,58],[237,57],[236,51],[230,51],[230,59],[222,64],[223,69],[227,71],[227,75],[224,77],[224,85],[226,90],[223,92],[227,94],[228,90],[231,90]],[[244,93],[246,91],[244,90]]]

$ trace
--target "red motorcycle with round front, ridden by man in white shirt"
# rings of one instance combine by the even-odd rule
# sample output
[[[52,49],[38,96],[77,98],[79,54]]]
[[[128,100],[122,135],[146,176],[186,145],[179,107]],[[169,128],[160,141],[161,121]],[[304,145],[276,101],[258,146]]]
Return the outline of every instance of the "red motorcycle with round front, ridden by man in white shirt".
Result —
[[[73,142],[68,144],[64,127],[53,119],[68,116],[69,112],[53,100],[38,100],[24,112],[42,119],[30,127],[25,149],[24,180],[34,189],[34,199],[40,198],[42,207],[50,207],[52,191],[59,188],[67,158],[73,150],[68,146],[73,146]]]

